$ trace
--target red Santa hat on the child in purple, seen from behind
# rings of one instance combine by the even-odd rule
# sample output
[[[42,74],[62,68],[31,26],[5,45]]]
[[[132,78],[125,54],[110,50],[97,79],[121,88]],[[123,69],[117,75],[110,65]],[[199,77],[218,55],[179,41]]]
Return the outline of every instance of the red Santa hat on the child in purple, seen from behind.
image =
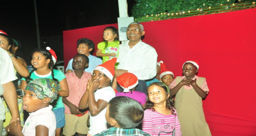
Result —
[[[133,73],[123,73],[116,78],[118,84],[124,89],[124,92],[129,92],[129,89],[133,89],[138,85],[138,78]]]

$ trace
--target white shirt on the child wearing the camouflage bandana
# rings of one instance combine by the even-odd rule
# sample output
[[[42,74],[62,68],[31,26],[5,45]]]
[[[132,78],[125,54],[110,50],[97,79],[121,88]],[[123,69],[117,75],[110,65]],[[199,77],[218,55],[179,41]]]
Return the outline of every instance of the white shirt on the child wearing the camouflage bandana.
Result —
[[[41,108],[35,112],[30,113],[26,120],[22,133],[25,136],[35,136],[36,126],[43,125],[49,129],[49,136],[55,136],[56,119],[52,111],[52,106]]]

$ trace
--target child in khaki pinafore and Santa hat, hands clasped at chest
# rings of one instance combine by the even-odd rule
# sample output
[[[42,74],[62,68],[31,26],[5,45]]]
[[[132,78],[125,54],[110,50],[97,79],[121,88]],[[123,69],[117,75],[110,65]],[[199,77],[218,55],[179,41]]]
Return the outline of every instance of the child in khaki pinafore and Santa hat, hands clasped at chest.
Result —
[[[183,136],[210,136],[205,121],[202,98],[209,92],[206,79],[196,76],[199,65],[194,61],[183,64],[183,77],[176,77],[170,84],[171,95],[175,97],[175,108],[179,115]]]

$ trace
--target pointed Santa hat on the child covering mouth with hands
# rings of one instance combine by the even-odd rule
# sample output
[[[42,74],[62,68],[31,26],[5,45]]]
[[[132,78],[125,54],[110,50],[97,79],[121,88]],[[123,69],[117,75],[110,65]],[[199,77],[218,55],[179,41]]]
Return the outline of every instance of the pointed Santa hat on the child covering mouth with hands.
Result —
[[[115,75],[115,63],[116,63],[116,58],[113,58],[111,60],[106,61],[103,64],[98,65],[97,67],[95,67],[91,73],[94,70],[98,70],[100,72],[103,72],[109,79],[111,79],[111,82],[114,78]]]

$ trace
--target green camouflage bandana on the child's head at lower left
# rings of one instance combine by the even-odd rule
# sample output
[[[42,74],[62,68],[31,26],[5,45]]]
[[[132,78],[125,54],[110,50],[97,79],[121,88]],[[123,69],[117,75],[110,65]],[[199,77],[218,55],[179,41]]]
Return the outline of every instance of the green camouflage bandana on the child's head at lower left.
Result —
[[[52,98],[50,103],[57,99],[58,92],[60,91],[57,82],[48,78],[35,79],[31,81],[25,89],[33,91],[39,99],[43,99],[45,97]]]

